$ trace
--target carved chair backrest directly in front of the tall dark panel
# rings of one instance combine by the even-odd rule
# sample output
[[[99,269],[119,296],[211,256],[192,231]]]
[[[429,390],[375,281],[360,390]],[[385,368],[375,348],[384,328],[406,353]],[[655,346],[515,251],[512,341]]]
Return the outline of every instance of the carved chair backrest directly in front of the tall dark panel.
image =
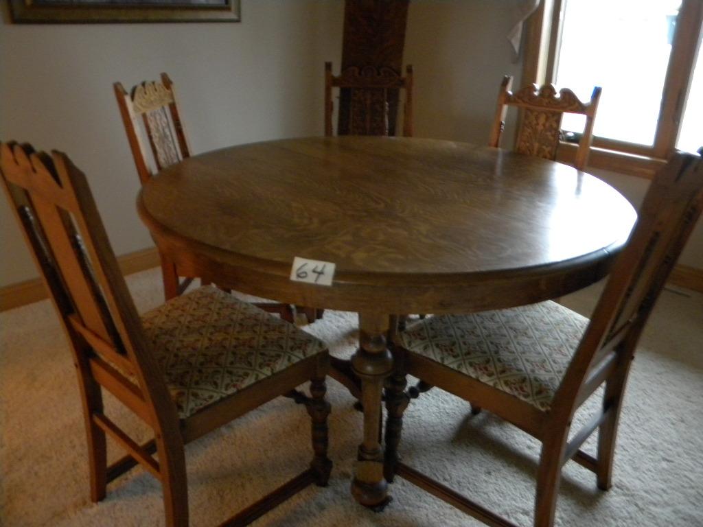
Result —
[[[338,76],[332,74],[332,63],[325,63],[325,136],[333,135],[334,103],[332,89],[346,90],[349,113],[341,115],[344,129],[338,134],[354,136],[395,135],[396,112],[391,104],[399,90],[405,89],[403,135],[413,136],[413,67],[408,65],[405,77],[389,67],[349,67]],[[341,105],[340,105],[341,107]]]

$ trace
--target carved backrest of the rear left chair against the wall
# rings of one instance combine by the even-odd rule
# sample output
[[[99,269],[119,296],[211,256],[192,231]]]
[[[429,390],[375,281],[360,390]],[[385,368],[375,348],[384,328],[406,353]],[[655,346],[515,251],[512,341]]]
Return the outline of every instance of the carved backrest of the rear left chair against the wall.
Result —
[[[137,84],[130,93],[119,82],[113,86],[142,183],[191,155],[174,86],[167,74],[161,74],[161,82]]]

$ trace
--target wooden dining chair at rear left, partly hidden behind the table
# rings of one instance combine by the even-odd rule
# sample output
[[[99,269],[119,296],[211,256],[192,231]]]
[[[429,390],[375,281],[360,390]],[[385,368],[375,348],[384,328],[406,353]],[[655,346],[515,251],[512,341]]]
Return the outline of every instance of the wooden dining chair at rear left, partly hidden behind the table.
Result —
[[[161,82],[141,82],[129,93],[120,82],[115,82],[113,87],[142,184],[158,171],[190,157],[191,148],[176,103],[176,90],[167,74],[161,74]],[[183,294],[195,277],[188,276],[181,280],[179,277],[182,273],[179,273],[176,265],[165,254],[160,253],[160,261],[164,294],[170,300]],[[207,283],[209,279],[202,280],[203,285]],[[231,289],[225,284],[218,285]],[[262,302],[257,306],[270,313],[278,313],[289,322],[295,319],[295,313],[288,304]],[[305,308],[301,308],[301,311],[307,313]]]

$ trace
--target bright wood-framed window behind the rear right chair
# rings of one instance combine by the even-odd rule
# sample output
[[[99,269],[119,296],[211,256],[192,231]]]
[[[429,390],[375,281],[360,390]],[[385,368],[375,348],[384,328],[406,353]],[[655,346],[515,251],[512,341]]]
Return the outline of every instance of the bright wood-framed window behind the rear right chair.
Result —
[[[703,0],[543,0],[523,79],[582,100],[602,86],[589,164],[651,176],[673,148],[703,145],[702,27]]]

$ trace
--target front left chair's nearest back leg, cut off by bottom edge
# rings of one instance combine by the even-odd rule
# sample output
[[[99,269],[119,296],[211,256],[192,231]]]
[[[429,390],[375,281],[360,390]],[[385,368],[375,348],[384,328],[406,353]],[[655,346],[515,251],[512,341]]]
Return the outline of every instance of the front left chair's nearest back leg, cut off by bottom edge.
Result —
[[[157,453],[162,474],[164,512],[167,527],[188,527],[188,484],[186,481],[186,457],[183,443],[179,448],[167,445],[157,436]]]

